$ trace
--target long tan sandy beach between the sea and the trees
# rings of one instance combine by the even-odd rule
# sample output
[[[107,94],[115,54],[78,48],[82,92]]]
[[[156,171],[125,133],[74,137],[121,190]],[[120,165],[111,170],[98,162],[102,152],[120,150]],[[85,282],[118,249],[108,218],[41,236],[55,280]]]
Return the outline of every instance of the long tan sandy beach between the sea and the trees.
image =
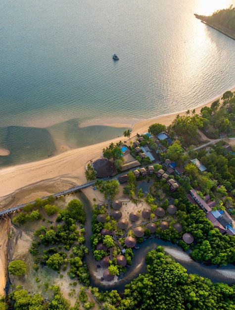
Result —
[[[235,87],[231,90],[235,92]],[[196,113],[200,113],[203,106],[210,106],[217,99],[221,99],[223,94],[216,96],[212,100],[195,107]],[[192,108],[193,109],[193,108]],[[190,109],[190,111],[192,110]],[[134,122],[131,124],[133,139],[137,133],[142,134],[148,127],[156,122],[170,125],[177,114],[184,115],[186,111],[161,115],[159,117]],[[125,120],[122,120],[125,121]],[[130,121],[130,120],[129,120]],[[103,120],[106,122],[106,120]],[[117,120],[114,123],[118,124]],[[110,126],[112,124],[110,123]],[[123,126],[123,124],[122,124]],[[61,149],[57,155],[51,156],[39,161],[8,166],[0,169],[0,209],[12,207],[25,202],[30,193],[30,199],[44,197],[56,192],[61,187],[71,186],[71,183],[81,185],[86,183],[85,166],[91,159],[97,159],[102,153],[102,149],[111,142],[117,143],[120,140],[125,141],[124,136],[117,137],[104,142],[99,142],[87,147],[66,150]],[[63,186],[61,185],[63,181]],[[59,183],[60,182],[60,183]],[[58,183],[60,185],[58,185]],[[50,191],[48,188],[51,188]],[[23,192],[26,192],[25,195]],[[14,198],[13,198],[14,193]],[[26,195],[27,194],[27,195]]]

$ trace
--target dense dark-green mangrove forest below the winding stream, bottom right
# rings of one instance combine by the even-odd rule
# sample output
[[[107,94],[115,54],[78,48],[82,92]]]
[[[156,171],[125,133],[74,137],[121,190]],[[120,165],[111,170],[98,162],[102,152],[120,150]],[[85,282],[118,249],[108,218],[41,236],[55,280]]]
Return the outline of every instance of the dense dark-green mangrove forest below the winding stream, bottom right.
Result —
[[[103,309],[234,309],[234,286],[187,274],[161,247],[147,254],[146,263],[147,272],[126,285],[124,298],[110,296]]]

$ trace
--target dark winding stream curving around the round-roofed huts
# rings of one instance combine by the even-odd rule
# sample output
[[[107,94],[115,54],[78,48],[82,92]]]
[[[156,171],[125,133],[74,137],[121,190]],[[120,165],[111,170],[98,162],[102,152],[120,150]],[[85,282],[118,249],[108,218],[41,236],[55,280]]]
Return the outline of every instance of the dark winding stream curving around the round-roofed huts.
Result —
[[[97,279],[94,275],[96,271],[97,261],[92,254],[92,247],[90,238],[92,235],[92,205],[85,194],[79,193],[79,199],[82,201],[85,207],[87,221],[85,224],[86,230],[86,246],[89,249],[89,254],[86,256],[86,262],[90,271],[91,285],[98,287],[99,290],[117,290],[119,293],[124,291],[125,285],[130,283],[134,278],[137,278],[140,273],[146,272],[145,257],[146,254],[155,249],[157,246],[162,246],[166,254],[170,254],[175,260],[181,263],[188,273],[196,273],[199,276],[207,277],[212,282],[224,282],[227,284],[235,283],[235,266],[228,264],[227,266],[217,267],[215,265],[204,265],[203,263],[196,262],[190,258],[178,245],[174,245],[171,242],[165,242],[160,239],[152,238],[145,240],[139,245],[139,250],[134,250],[134,258],[132,259],[132,265],[125,273],[125,277],[115,284],[105,285],[100,279]]]

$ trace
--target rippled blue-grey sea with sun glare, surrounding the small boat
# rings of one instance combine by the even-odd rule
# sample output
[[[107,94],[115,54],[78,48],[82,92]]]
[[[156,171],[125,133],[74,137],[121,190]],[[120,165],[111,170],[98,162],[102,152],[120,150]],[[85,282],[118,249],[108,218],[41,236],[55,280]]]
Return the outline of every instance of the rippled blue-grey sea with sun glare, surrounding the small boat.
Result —
[[[154,118],[235,86],[235,41],[193,15],[235,0],[3,0],[0,165],[121,136],[92,119]],[[117,53],[120,60],[114,61]],[[47,128],[45,128],[47,126]]]

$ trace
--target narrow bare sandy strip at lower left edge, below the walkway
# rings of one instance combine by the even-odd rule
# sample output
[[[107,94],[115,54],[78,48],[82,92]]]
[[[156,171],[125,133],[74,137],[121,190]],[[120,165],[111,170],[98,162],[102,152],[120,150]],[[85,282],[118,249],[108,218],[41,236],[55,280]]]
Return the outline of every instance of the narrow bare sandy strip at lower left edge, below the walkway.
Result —
[[[5,295],[8,265],[8,235],[10,218],[0,219],[0,296]]]

